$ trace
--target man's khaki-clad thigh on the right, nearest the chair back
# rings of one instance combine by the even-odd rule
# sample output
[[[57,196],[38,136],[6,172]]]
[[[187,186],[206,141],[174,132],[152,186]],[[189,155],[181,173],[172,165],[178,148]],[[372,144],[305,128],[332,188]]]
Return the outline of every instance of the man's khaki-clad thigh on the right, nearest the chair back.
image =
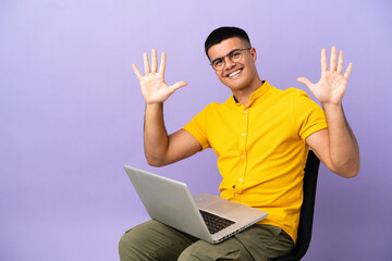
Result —
[[[179,260],[262,261],[283,256],[292,251],[293,247],[292,239],[280,227],[254,225],[217,245],[198,240],[186,248]]]

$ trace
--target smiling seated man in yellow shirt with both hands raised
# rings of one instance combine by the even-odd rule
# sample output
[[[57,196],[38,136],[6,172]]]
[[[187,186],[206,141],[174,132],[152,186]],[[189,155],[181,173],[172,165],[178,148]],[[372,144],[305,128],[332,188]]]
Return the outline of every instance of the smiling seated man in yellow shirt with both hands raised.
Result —
[[[121,260],[269,260],[285,254],[296,240],[308,148],[343,177],[356,176],[359,171],[358,146],[342,108],[352,63],[342,75],[343,53],[339,52],[336,61],[335,47],[329,70],[322,49],[317,84],[297,79],[323,110],[304,91],[279,90],[261,80],[255,65],[256,49],[244,30],[218,28],[207,38],[205,50],[218,78],[233,96],[224,103],[207,105],[171,135],[163,124],[163,102],[186,83],[164,83],[166,53],[159,71],[156,50],[151,65],[144,54],[145,76],[133,64],[146,100],[147,162],[162,166],[212,148],[223,176],[221,197],[260,208],[269,215],[218,245],[150,221],[122,237]]]

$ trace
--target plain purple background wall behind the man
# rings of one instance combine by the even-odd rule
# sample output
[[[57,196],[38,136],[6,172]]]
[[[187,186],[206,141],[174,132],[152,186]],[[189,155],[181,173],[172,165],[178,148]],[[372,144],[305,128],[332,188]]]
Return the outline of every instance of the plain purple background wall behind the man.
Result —
[[[169,132],[230,91],[204,54],[216,27],[246,29],[261,78],[306,89],[320,49],[354,69],[344,98],[362,170],[320,169],[314,236],[304,260],[390,260],[392,3],[333,1],[0,1],[0,259],[118,260],[125,229],[148,216],[123,164],[218,194],[207,150],[155,169],[143,153],[144,99],[131,64],[168,53]]]

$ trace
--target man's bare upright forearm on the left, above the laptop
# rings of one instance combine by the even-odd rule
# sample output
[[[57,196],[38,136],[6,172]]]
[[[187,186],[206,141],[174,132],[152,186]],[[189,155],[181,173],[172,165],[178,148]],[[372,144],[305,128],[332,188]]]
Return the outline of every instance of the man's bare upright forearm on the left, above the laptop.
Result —
[[[148,164],[162,165],[169,147],[169,137],[163,122],[163,103],[146,105],[144,144]]]

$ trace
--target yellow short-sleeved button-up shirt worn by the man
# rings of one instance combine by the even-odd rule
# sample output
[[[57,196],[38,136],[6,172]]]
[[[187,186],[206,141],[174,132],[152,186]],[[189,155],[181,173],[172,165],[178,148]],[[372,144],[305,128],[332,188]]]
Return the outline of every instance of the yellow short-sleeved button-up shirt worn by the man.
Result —
[[[305,139],[327,128],[322,109],[303,90],[280,90],[267,82],[249,104],[210,103],[184,129],[218,156],[223,179],[221,197],[268,212],[261,224],[297,237],[303,177],[308,146]]]

